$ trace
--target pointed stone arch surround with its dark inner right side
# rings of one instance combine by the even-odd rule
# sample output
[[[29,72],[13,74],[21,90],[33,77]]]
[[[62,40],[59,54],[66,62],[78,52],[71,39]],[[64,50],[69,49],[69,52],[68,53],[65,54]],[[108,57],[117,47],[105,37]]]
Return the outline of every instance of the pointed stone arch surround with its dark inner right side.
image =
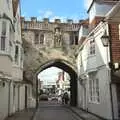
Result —
[[[70,92],[71,92],[70,105],[76,106],[77,105],[77,73],[74,70],[74,66],[66,60],[55,59],[42,64],[35,74],[36,76],[36,107],[38,107],[38,74],[50,67],[60,68],[69,74]]]

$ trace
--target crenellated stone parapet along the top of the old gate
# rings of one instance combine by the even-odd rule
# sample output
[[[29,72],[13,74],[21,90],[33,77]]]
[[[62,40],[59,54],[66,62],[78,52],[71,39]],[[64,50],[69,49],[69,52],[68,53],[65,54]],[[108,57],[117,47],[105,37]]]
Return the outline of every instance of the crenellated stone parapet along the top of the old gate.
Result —
[[[66,22],[61,22],[61,19],[55,19],[54,22],[49,21],[49,18],[44,18],[43,21],[38,21],[36,17],[31,17],[30,20],[25,20],[21,17],[23,30],[48,30],[54,31],[54,28],[60,26],[63,31],[78,31],[81,26],[81,22],[74,23],[72,19],[68,19]]]

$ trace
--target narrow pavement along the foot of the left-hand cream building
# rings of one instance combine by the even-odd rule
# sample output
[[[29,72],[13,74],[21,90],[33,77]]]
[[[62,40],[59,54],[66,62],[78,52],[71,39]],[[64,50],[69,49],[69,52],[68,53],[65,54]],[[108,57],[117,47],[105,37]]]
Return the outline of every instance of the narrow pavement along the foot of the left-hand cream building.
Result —
[[[32,120],[35,112],[35,108],[25,109],[20,112],[16,112],[12,116],[7,117],[5,120]]]

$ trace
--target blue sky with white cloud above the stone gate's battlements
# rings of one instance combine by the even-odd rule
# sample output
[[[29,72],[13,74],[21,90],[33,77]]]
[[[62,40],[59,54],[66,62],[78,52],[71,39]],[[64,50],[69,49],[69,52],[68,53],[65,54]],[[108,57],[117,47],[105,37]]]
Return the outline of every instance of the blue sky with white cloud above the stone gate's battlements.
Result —
[[[76,22],[87,18],[86,1],[88,0],[21,0],[21,14],[26,18],[34,16],[39,20],[48,17],[51,21],[60,18]]]

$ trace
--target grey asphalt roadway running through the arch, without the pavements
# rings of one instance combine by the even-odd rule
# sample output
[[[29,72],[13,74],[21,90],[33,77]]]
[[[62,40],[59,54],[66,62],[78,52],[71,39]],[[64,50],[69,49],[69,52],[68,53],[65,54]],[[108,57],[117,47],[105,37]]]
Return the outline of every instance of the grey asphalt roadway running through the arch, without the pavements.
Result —
[[[82,120],[67,107],[57,102],[40,102],[33,120]]]

